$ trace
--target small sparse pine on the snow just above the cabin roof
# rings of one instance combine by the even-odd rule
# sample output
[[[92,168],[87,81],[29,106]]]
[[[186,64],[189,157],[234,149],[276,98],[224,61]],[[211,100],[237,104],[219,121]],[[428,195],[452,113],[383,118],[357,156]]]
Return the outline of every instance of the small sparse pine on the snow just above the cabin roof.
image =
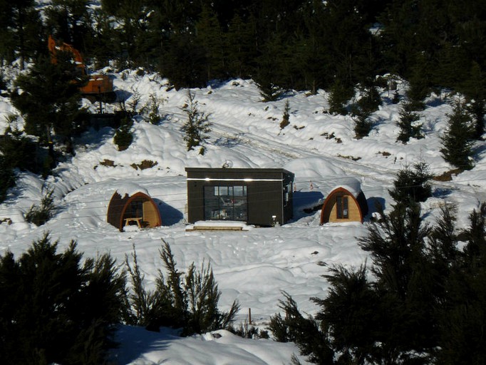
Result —
[[[187,150],[190,151],[209,138],[206,133],[210,132],[210,115],[199,109],[195,95],[190,91],[187,91],[187,103],[182,110],[187,114],[187,122],[182,125],[182,130],[185,132],[184,140],[187,143]],[[202,146],[200,154],[204,155],[204,153],[205,148]]]

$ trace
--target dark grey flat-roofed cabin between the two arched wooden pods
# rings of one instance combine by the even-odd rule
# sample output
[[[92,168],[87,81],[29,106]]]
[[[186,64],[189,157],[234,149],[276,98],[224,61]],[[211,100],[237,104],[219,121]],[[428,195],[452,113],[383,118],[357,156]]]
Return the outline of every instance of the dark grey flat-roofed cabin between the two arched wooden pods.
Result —
[[[186,168],[187,219],[282,225],[293,215],[294,174],[282,168]]]

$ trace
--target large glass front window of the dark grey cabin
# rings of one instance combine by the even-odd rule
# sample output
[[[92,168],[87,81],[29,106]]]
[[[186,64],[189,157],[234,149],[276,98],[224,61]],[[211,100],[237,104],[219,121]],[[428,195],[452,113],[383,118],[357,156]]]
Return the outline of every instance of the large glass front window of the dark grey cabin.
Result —
[[[241,220],[247,221],[247,187],[205,186],[205,220]]]

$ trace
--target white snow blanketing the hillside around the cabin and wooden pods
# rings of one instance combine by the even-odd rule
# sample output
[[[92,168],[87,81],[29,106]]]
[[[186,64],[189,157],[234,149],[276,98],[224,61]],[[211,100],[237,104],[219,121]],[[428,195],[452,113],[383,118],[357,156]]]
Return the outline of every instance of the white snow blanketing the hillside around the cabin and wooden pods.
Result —
[[[282,292],[289,293],[302,312],[316,314],[310,297],[325,297],[328,284],[321,265],[358,266],[366,259],[357,244],[370,225],[375,202],[386,212],[393,201],[388,189],[395,173],[406,165],[425,161],[431,173],[440,175],[452,167],[440,155],[440,136],[447,125],[451,106],[443,96],[430,96],[420,113],[425,138],[397,143],[395,125],[400,106],[392,104],[388,91],[382,91],[383,106],[372,117],[376,124],[366,138],[356,140],[349,116],[327,113],[328,95],[291,92],[272,103],[262,103],[251,80],[214,82],[207,88],[192,89],[200,110],[210,115],[210,139],[206,153],[185,149],[181,131],[186,115],[181,107],[187,90],[170,88],[166,79],[155,74],[139,76],[136,71],[112,74],[119,96],[138,93],[140,105],[150,96],[162,101],[158,125],[147,123],[143,115],[135,118],[134,141],[127,150],[118,151],[111,128],[89,130],[76,140],[76,155],[61,163],[46,180],[30,173],[19,173],[18,185],[0,205],[0,253],[7,250],[18,257],[44,232],[51,232],[60,249],[76,240],[86,257],[109,252],[123,262],[133,245],[145,274],[148,289],[154,286],[162,267],[159,250],[168,242],[177,266],[184,270],[195,262],[210,262],[222,292],[219,309],[227,310],[234,299],[241,304],[237,325],[248,320],[264,329],[270,317],[280,312]],[[401,92],[401,91],[400,91]],[[127,105],[130,99],[126,101]],[[285,102],[289,101],[290,125],[280,128]],[[93,112],[96,105],[84,101]],[[117,105],[106,106],[113,111]],[[9,98],[0,97],[0,131],[6,130],[6,115],[14,113]],[[21,123],[21,120],[20,122]],[[477,148],[484,151],[485,143]],[[143,161],[153,167],[142,170]],[[108,163],[109,162],[109,163]],[[445,204],[457,205],[459,225],[486,200],[486,160],[477,155],[475,168],[454,176],[450,182],[433,181],[433,197],[422,204],[426,220],[433,221]],[[249,227],[242,230],[187,230],[205,222],[187,225],[186,167],[284,168],[295,174],[294,219],[280,227]],[[319,225],[315,207],[336,186],[351,192],[363,190],[371,210],[364,224],[329,223]],[[46,189],[53,188],[54,217],[41,227],[29,224],[25,214],[39,204]],[[133,194],[143,191],[160,208],[162,227],[118,229],[106,222],[110,197],[115,191]],[[11,220],[11,224],[7,220]],[[294,344],[272,340],[242,339],[227,331],[216,331],[189,338],[171,329],[160,333],[122,326],[117,332],[120,347],[113,351],[118,364],[289,364],[299,351]],[[300,356],[305,364],[304,359]]]

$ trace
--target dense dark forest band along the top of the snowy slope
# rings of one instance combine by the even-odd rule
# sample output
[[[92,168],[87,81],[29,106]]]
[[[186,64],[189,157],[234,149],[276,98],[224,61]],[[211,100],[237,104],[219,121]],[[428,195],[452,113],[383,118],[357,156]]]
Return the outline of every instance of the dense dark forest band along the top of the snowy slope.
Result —
[[[53,34],[95,66],[143,66],[176,88],[240,77],[315,92],[366,86],[394,73],[410,81],[410,97],[450,88],[484,98],[480,0],[91,3],[53,0],[41,10],[33,0],[1,0],[0,57],[35,59]]]

